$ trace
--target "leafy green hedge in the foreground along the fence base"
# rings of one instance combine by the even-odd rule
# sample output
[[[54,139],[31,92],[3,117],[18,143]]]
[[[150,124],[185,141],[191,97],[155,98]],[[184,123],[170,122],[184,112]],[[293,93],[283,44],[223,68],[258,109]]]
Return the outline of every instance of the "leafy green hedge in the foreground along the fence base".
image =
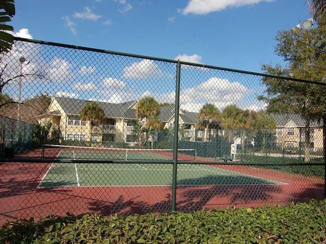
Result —
[[[326,243],[326,201],[192,214],[20,220],[1,243]]]

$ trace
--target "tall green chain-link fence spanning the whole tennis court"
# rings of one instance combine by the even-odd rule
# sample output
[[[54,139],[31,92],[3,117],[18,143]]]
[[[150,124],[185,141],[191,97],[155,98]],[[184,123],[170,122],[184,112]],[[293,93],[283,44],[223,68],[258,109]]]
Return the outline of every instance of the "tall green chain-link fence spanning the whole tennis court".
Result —
[[[321,83],[21,38],[0,62],[2,223],[325,196],[322,120],[258,99]]]

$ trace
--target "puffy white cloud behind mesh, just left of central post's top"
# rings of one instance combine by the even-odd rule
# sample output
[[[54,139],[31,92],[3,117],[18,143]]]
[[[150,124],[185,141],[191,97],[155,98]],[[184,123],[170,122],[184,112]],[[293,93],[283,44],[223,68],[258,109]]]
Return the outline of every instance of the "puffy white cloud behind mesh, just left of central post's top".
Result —
[[[153,60],[143,59],[139,63],[133,63],[123,69],[123,77],[144,79],[161,76],[163,72],[158,68]]]

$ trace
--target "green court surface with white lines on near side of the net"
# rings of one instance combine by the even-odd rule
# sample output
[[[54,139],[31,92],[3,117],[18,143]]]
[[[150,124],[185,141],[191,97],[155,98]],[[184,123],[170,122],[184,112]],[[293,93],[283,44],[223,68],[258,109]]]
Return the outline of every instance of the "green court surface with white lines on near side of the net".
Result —
[[[179,164],[178,186],[279,185],[207,165]],[[170,186],[171,164],[53,163],[38,187]]]

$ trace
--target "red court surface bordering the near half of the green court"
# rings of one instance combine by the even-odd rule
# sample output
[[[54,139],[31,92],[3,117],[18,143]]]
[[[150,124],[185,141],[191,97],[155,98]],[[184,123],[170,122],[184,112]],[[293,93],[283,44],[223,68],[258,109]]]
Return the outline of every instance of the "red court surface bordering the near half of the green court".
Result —
[[[6,221],[38,220],[67,212],[83,215],[129,215],[171,210],[171,186],[39,188],[48,163],[0,164],[0,225]],[[177,188],[176,208],[191,212],[228,206],[286,205],[323,199],[324,180],[251,166],[218,165],[226,170],[280,181],[271,185],[182,186]]]

